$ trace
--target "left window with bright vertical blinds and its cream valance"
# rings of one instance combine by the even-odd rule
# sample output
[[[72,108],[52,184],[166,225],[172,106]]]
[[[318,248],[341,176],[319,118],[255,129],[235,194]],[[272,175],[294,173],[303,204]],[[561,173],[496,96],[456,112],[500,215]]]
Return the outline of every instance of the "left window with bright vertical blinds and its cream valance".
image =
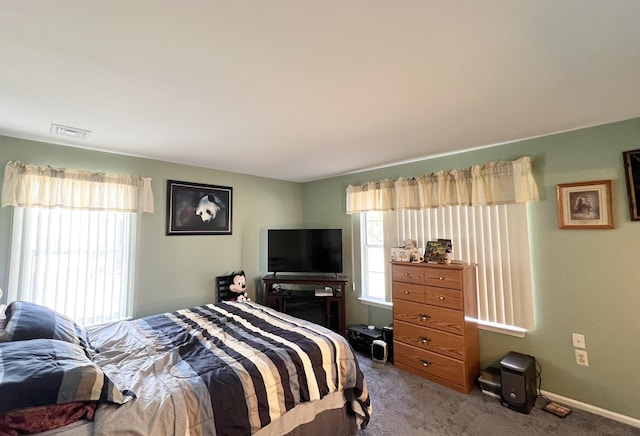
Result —
[[[131,316],[137,214],[153,213],[151,179],[9,161],[2,206],[12,206],[9,300],[78,324]]]

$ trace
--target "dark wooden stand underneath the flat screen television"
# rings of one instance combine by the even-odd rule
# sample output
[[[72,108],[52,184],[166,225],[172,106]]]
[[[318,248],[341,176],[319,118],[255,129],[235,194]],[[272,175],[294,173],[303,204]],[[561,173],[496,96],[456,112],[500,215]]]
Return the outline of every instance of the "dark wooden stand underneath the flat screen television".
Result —
[[[265,306],[279,312],[290,313],[293,316],[296,316],[296,314],[292,310],[288,310],[288,308],[294,307],[294,304],[298,309],[305,303],[307,303],[311,311],[316,310],[314,308],[320,311],[324,309],[323,314],[316,314],[317,321],[316,316],[312,317],[312,320],[336,333],[343,336],[346,335],[344,307],[344,295],[348,282],[346,276],[339,276],[338,274],[335,277],[323,275],[276,276],[276,274],[268,274],[262,278],[262,282],[264,283]],[[304,289],[281,290],[276,285],[299,285],[300,288]],[[313,285],[321,286],[322,288],[330,287],[333,289],[333,294],[330,296],[316,296],[315,290],[312,288]],[[304,317],[300,316],[300,318]]]

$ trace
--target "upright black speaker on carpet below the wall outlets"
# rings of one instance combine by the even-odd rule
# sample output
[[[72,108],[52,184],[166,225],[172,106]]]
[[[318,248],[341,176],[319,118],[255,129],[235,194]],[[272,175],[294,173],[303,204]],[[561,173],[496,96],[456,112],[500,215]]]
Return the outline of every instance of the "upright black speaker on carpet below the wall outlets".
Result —
[[[536,403],[536,361],[526,354],[510,352],[500,361],[502,405],[529,413]]]

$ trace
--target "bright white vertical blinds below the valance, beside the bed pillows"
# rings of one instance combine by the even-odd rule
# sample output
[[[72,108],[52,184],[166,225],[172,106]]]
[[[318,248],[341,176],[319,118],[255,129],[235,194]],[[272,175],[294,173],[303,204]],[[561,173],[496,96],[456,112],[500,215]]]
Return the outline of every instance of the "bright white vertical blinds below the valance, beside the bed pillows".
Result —
[[[9,300],[87,325],[131,316],[136,214],[15,207]]]

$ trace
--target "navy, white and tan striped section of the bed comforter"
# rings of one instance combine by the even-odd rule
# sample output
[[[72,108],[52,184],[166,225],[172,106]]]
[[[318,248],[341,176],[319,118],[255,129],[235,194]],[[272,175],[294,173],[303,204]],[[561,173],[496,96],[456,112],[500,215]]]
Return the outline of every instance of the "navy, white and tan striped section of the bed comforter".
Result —
[[[327,379],[335,386],[339,384],[341,359],[357,365],[344,338],[332,332],[327,336],[328,330],[319,326],[295,324],[287,316],[278,318],[262,310],[246,310],[241,304],[222,302],[134,322],[150,335],[159,337],[166,349],[178,349],[182,361],[205,382],[214,416],[224,417],[215,420],[219,435],[251,434],[249,397],[255,396],[259,427],[271,422],[269,408],[273,404],[270,402],[277,400],[273,392],[270,397],[269,389],[273,391],[274,388],[266,385],[267,380],[262,375],[266,371],[265,359],[269,362],[267,377],[280,380],[286,410],[291,410],[297,403],[310,401],[312,390],[319,393],[319,398],[330,393]],[[346,355],[337,358],[336,343],[340,344],[340,353]],[[260,367],[257,366],[259,362]],[[313,377],[308,377],[307,369],[313,372]],[[362,414],[364,410],[366,415],[363,417],[364,428],[370,404],[359,368],[357,373],[353,385],[344,389],[349,391],[347,396],[351,400],[361,403],[359,412]],[[239,374],[248,375],[250,380],[241,379]],[[309,380],[313,380],[314,386],[309,385]],[[316,395],[315,399],[319,398]]]

